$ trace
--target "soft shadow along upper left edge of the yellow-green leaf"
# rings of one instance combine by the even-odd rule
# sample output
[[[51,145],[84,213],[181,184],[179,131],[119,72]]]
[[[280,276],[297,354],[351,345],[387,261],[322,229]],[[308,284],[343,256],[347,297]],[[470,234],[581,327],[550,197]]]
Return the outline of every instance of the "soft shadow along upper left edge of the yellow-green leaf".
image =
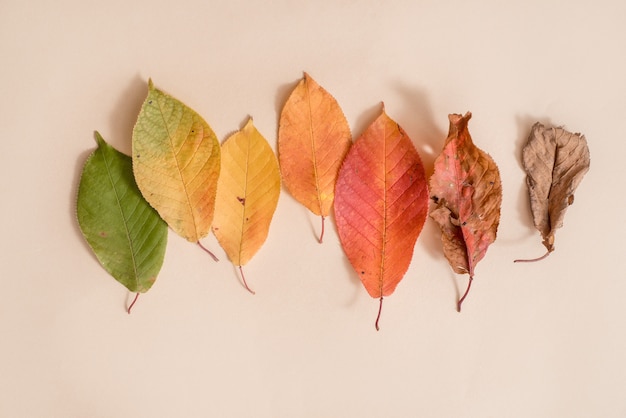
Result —
[[[109,132],[102,135],[109,144],[126,155],[131,153],[133,129],[147,94],[147,81],[139,74],[135,75],[111,110]]]

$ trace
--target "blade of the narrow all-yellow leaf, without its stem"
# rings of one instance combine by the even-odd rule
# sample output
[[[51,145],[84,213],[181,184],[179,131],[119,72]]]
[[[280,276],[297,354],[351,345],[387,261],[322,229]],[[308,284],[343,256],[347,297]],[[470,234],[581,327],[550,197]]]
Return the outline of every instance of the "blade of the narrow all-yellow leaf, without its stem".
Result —
[[[233,264],[261,248],[280,195],[276,156],[252,119],[222,145],[213,232]]]

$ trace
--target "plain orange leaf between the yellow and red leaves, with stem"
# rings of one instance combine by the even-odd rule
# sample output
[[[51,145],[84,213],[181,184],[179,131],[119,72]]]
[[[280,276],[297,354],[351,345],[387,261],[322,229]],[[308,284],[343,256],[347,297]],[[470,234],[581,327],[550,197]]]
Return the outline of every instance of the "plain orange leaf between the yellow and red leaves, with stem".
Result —
[[[334,200],[341,162],[350,149],[350,127],[337,101],[308,74],[280,115],[278,157],[283,182],[296,200],[324,218]]]

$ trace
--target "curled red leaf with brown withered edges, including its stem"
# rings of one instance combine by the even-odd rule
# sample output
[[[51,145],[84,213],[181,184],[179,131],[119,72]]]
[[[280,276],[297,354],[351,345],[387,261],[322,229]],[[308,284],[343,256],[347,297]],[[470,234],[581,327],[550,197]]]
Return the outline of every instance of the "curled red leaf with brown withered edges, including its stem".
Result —
[[[467,296],[474,268],[496,239],[500,223],[502,184],[493,159],[472,142],[467,123],[472,114],[449,115],[450,132],[435,160],[430,178],[436,206],[430,216],[441,228],[443,252],[455,273],[469,274]]]

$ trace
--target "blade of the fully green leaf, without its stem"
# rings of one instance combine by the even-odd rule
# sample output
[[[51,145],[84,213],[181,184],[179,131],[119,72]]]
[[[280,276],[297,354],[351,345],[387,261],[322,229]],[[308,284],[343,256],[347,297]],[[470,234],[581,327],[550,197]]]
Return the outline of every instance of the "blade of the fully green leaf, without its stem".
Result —
[[[145,201],[131,158],[96,132],[78,187],[80,229],[102,266],[131,292],[148,291],[161,270],[167,225]]]

